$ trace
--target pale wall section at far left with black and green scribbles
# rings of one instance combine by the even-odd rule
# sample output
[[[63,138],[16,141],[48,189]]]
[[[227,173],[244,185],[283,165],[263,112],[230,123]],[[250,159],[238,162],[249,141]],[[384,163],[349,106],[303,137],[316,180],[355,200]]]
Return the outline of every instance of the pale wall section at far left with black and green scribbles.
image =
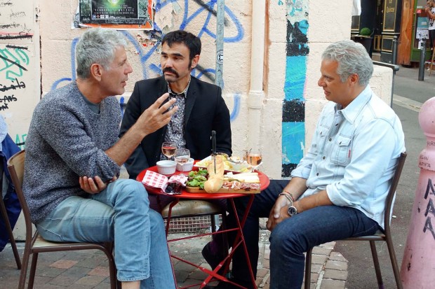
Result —
[[[39,12],[33,0],[0,1],[0,115],[23,143],[40,99]]]

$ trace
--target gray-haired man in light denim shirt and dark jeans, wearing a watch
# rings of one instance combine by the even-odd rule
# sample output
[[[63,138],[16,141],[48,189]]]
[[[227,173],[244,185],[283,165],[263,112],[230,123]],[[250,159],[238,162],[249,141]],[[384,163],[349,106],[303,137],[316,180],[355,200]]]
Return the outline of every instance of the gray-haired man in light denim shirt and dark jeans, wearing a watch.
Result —
[[[301,288],[309,248],[384,227],[385,198],[405,151],[399,118],[368,86],[373,63],[361,44],[347,40],[329,45],[320,71],[318,84],[330,102],[312,145],[282,191],[255,195],[243,228],[251,264],[256,265],[258,218],[269,217],[270,288]],[[239,202],[239,213],[245,205],[246,200]],[[236,252],[233,274],[239,283],[249,276],[245,262]]]

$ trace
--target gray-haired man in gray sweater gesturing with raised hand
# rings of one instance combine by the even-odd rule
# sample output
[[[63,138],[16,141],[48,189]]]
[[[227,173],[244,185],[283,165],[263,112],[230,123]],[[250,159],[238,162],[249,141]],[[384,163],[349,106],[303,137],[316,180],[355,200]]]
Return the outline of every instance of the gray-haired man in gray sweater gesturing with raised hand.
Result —
[[[32,221],[50,241],[114,241],[123,289],[175,288],[163,220],[137,181],[116,180],[142,139],[167,125],[177,107],[163,94],[118,138],[132,72],[126,41],[88,29],[76,46],[77,79],[36,106],[26,143],[23,189]],[[163,104],[163,105],[162,105]]]

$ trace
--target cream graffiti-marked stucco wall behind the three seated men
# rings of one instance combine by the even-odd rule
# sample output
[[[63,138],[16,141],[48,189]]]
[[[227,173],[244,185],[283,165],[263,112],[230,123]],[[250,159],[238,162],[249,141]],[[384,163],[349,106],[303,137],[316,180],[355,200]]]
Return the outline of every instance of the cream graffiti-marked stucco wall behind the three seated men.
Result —
[[[20,109],[14,102],[8,111],[1,111],[8,123],[14,122],[11,129],[15,136],[27,133],[32,108],[39,97],[39,72],[43,94],[76,78],[74,48],[83,29],[72,29],[79,0],[11,2],[23,9],[28,8],[27,2],[39,6],[41,27],[41,71],[39,63],[32,60],[30,64],[34,66],[26,71],[32,74],[28,81],[32,81],[33,91],[25,95],[34,100],[22,101]],[[186,29],[200,36],[203,51],[193,74],[214,81],[216,0],[156,0],[155,4],[153,31],[123,31],[129,42],[133,73],[125,95],[119,97],[120,107],[128,101],[135,81],[161,72],[159,40],[166,31]],[[262,170],[272,178],[289,176],[309,146],[317,117],[326,103],[317,86],[321,52],[329,43],[349,38],[352,1],[333,1],[321,7],[312,0],[227,0],[225,4],[224,97],[231,113],[234,154],[241,155],[248,148],[248,140],[257,138],[265,159]],[[251,65],[252,38],[257,35],[252,25],[258,20],[252,17],[253,5],[266,6],[265,62]],[[39,56],[37,47],[25,52],[36,59]],[[260,110],[254,111],[260,118],[259,128],[249,127],[253,115],[249,108],[253,101],[249,100],[251,69],[261,69],[264,76],[264,96],[255,99],[260,104]],[[375,91],[389,97],[391,72],[377,71],[372,81]],[[387,80],[383,79],[385,75]]]

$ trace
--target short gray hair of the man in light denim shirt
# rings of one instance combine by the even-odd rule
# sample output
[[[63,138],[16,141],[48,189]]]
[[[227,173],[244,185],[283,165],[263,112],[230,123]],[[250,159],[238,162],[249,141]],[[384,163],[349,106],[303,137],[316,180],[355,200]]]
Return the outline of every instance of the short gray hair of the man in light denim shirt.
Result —
[[[323,51],[322,60],[338,62],[337,74],[342,82],[356,73],[359,85],[366,86],[373,74],[373,62],[361,43],[352,40],[342,40],[332,43]]]

